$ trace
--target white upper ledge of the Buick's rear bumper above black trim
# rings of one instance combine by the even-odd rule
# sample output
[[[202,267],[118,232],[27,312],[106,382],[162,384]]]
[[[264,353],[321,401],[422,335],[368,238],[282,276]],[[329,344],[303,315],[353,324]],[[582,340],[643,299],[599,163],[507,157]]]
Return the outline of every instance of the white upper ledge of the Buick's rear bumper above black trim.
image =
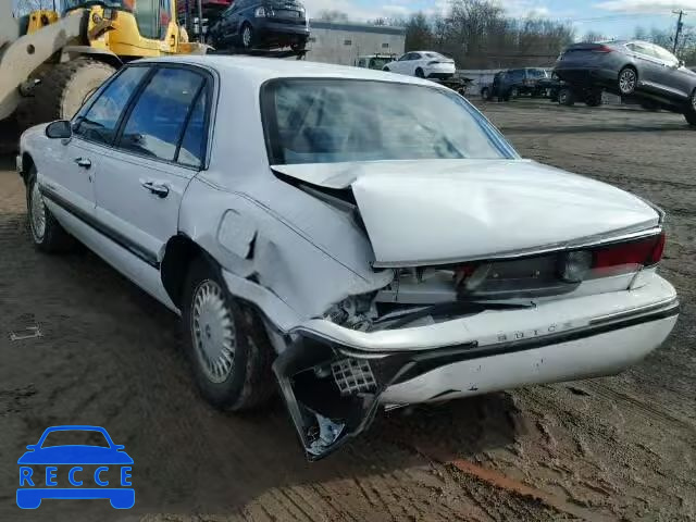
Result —
[[[678,306],[674,287],[655,274],[636,289],[542,301],[533,307],[488,310],[428,326],[359,332],[327,320],[311,320],[291,333],[332,346],[366,353],[389,355],[453,348],[475,344],[495,350],[511,341],[527,343],[591,332],[597,325],[619,324],[626,318],[654,316]]]

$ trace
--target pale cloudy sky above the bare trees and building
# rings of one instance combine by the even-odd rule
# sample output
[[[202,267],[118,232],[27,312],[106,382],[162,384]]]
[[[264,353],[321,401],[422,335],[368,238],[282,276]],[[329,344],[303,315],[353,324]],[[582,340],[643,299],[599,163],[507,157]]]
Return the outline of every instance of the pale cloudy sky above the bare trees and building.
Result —
[[[413,11],[436,12],[447,0],[303,0],[310,15],[324,9],[338,10],[358,21],[409,14]],[[501,5],[514,16],[542,14],[572,21],[579,36],[594,30],[607,37],[625,38],[636,26],[667,28],[676,25],[673,10],[691,11],[686,24],[696,24],[696,0],[505,0]]]

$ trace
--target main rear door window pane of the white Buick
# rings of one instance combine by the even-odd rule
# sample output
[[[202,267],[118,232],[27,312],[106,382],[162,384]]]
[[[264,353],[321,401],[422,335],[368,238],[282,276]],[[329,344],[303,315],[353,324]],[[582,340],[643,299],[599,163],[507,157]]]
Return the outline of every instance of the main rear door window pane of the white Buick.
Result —
[[[126,121],[119,147],[175,161],[178,146],[204,77],[186,69],[161,69],[152,76]]]

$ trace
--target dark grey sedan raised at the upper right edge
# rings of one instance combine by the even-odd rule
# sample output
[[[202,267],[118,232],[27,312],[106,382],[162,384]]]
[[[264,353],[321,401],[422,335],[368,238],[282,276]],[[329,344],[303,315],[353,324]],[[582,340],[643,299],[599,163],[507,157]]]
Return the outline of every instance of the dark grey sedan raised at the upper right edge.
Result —
[[[696,125],[696,73],[654,44],[575,44],[561,53],[555,73],[575,94],[606,89],[646,108],[682,113]]]

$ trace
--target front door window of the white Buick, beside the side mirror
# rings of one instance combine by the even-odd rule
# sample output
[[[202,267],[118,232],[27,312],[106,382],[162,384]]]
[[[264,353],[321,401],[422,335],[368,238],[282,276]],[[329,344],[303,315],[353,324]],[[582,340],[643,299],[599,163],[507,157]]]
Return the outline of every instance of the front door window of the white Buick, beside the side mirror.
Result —
[[[149,67],[126,67],[91,105],[85,105],[73,120],[73,134],[90,141],[111,145],[116,125]]]

